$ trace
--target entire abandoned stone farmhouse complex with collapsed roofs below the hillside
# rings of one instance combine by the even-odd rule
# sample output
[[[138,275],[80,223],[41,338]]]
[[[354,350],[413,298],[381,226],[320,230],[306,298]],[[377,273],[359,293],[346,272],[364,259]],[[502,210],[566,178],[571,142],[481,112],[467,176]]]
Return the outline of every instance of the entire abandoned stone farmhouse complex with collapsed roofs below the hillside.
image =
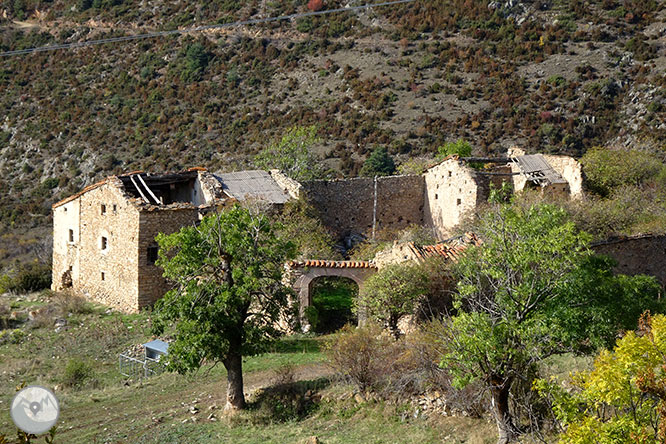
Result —
[[[449,157],[422,175],[304,183],[276,170],[213,174],[195,168],[112,176],[53,205],[52,288],[71,288],[122,311],[150,306],[169,288],[155,265],[155,236],[196,224],[206,213],[236,201],[280,206],[304,197],[340,240],[410,225],[430,227],[445,239],[470,211],[487,201],[491,184],[580,193],[580,167],[573,159],[516,152],[483,161],[494,166],[475,169],[467,160]],[[377,264],[336,263],[320,271],[352,273],[361,276],[355,279],[361,283],[382,263],[380,258]]]

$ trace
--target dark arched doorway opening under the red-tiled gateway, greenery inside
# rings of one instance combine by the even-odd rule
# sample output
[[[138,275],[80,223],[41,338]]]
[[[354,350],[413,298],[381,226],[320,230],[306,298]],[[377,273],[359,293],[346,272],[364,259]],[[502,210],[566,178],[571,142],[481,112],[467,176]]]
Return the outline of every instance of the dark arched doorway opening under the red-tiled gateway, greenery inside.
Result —
[[[358,284],[351,278],[320,276],[310,282],[311,303],[305,317],[314,333],[325,334],[339,330],[345,324],[357,323],[352,312],[358,296]]]

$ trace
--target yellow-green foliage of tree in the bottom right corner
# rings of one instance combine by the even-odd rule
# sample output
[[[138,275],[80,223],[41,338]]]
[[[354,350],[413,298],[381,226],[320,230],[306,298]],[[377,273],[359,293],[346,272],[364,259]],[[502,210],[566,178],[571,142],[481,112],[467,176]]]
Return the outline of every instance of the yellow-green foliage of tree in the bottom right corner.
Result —
[[[539,380],[570,444],[666,442],[666,316],[642,317],[638,332],[604,350],[594,369],[572,375],[574,390]]]

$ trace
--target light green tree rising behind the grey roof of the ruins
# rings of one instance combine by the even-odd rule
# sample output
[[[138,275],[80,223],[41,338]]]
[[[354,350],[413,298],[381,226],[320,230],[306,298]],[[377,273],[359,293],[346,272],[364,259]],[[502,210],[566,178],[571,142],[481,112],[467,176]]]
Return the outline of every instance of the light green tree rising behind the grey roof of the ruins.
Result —
[[[318,141],[314,125],[289,128],[279,141],[261,150],[254,164],[266,170],[277,168],[299,181],[321,179],[323,170],[312,151]]]

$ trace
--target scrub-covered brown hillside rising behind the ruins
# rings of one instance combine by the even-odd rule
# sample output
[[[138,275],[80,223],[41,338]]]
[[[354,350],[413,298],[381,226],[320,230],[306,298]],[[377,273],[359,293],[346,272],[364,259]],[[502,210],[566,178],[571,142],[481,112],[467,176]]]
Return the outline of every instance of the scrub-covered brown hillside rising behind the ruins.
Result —
[[[3,0],[0,51],[306,3]],[[34,254],[51,203],[108,174],[243,168],[293,125],[319,125],[318,152],[342,176],[377,145],[404,161],[458,138],[478,154],[663,156],[665,29],[656,0],[418,0],[0,58],[0,261]]]

